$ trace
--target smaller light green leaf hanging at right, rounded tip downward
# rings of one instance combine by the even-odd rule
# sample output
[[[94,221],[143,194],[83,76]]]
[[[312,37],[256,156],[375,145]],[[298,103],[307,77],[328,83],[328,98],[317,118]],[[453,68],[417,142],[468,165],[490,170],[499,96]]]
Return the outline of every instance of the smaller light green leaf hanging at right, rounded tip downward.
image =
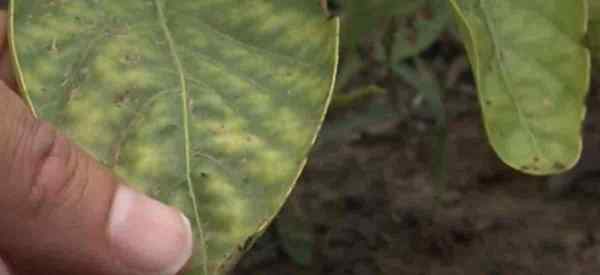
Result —
[[[488,137],[523,172],[554,174],[581,153],[589,85],[585,0],[450,0]]]

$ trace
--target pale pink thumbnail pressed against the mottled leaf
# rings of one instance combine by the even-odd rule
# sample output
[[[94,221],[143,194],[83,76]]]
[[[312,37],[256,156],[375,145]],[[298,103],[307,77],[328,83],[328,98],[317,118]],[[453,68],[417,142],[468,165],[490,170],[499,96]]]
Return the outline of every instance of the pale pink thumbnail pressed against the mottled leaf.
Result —
[[[122,263],[144,274],[175,275],[192,254],[188,219],[126,186],[118,187],[108,230]]]

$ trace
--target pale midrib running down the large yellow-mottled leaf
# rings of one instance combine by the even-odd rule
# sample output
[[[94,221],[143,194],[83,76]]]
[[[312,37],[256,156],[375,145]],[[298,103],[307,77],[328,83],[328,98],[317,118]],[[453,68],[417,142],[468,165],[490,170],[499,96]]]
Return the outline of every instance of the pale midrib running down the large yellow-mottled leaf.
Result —
[[[192,208],[194,209],[194,218],[196,220],[196,225],[198,227],[198,234],[199,234],[199,241],[200,241],[200,245],[202,246],[202,268],[203,268],[203,272],[205,275],[208,275],[208,255],[207,255],[207,247],[206,247],[206,241],[204,238],[204,231],[202,229],[202,223],[200,220],[200,213],[198,211],[198,202],[196,200],[196,192],[194,190],[194,183],[192,181],[192,175],[191,175],[191,139],[190,139],[190,118],[189,118],[189,102],[188,102],[188,97],[189,97],[189,92],[188,92],[188,88],[187,88],[187,82],[186,82],[186,73],[185,73],[185,69],[183,67],[183,63],[181,62],[181,59],[179,58],[179,54],[177,53],[177,47],[176,47],[176,43],[175,40],[173,39],[173,35],[171,34],[171,30],[169,29],[169,26],[167,25],[167,18],[165,16],[164,10],[163,10],[163,6],[162,3],[159,0],[154,0],[154,4],[156,6],[156,11],[158,13],[158,20],[160,23],[160,26],[163,30],[163,34],[165,36],[165,39],[167,40],[168,43],[168,47],[169,47],[169,53],[171,55],[171,58],[173,59],[173,63],[176,67],[177,70],[177,75],[179,76],[179,86],[181,89],[181,104],[182,104],[182,120],[183,120],[183,130],[184,130],[184,154],[185,154],[185,177],[186,177],[186,182],[187,182],[187,186],[190,192],[190,199],[192,200]]]

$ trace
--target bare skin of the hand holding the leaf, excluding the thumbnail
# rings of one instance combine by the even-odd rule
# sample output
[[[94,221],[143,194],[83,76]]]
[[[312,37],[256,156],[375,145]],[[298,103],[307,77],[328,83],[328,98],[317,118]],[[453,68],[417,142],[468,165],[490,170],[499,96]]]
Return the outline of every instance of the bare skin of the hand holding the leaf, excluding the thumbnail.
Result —
[[[5,22],[0,10],[0,261],[11,275],[145,274],[121,264],[107,236],[122,181],[15,92]]]

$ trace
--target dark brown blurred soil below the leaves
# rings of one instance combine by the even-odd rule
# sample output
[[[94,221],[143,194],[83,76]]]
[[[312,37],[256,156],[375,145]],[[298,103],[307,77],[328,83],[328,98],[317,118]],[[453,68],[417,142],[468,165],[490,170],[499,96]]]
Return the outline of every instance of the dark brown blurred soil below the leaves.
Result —
[[[308,236],[304,250],[310,260],[290,256],[285,233],[276,228],[280,222],[235,274],[600,274],[598,89],[588,97],[586,147],[578,168],[532,177],[495,156],[469,72],[462,70],[467,76],[444,95],[449,180],[439,199],[430,175],[426,116],[399,111],[323,141],[335,136],[336,125],[366,112],[364,106],[334,110],[284,209],[294,213],[287,219],[291,227]],[[415,96],[401,86],[394,89],[406,100]]]

